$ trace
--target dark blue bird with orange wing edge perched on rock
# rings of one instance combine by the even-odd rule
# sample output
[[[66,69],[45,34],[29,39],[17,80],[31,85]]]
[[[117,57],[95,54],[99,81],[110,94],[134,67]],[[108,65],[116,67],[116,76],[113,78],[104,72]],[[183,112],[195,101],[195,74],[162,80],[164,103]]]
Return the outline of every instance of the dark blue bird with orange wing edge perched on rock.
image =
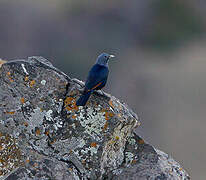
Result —
[[[89,71],[83,94],[76,102],[77,106],[85,106],[92,92],[105,86],[109,74],[108,61],[112,57],[114,55],[107,53],[102,53],[98,56],[96,64]]]

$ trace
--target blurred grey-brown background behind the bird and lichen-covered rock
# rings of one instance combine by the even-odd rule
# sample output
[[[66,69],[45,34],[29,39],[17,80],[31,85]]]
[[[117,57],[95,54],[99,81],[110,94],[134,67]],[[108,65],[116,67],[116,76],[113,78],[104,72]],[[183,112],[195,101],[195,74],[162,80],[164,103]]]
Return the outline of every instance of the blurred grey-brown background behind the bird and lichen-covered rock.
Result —
[[[0,57],[44,56],[85,80],[114,54],[105,91],[140,116],[137,133],[206,179],[205,0],[0,0]]]

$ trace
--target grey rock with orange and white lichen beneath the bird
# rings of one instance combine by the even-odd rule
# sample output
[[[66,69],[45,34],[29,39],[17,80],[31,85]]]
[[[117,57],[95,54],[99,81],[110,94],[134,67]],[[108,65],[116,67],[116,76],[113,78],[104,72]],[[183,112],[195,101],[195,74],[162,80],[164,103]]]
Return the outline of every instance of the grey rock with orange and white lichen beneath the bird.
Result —
[[[190,179],[126,104],[96,92],[77,107],[83,86],[42,57],[2,63],[0,179]]]

